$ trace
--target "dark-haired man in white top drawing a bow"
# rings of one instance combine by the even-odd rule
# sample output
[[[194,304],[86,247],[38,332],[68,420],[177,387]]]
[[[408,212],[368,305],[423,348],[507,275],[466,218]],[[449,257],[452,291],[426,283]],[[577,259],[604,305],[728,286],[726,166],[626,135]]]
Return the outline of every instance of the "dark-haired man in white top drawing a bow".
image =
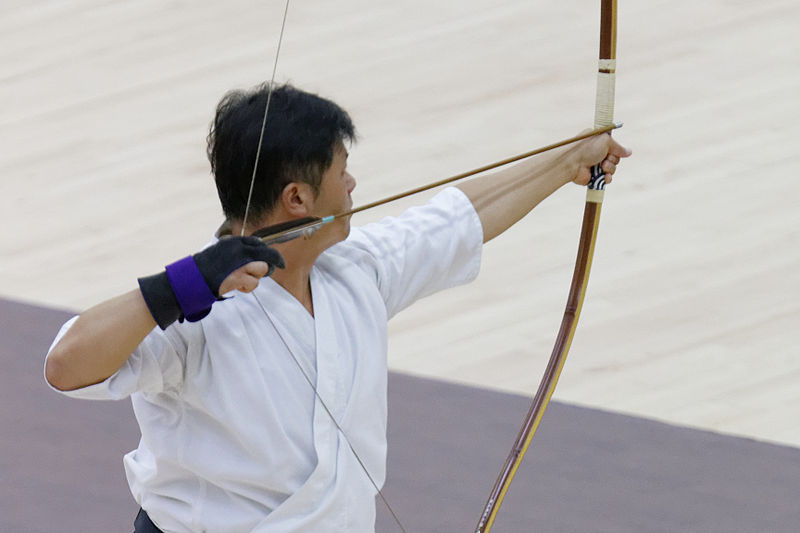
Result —
[[[387,320],[473,279],[484,242],[562,185],[585,184],[594,164],[610,181],[630,155],[598,136],[400,217],[352,232],[337,219],[273,249],[238,235],[351,207],[355,130],[336,104],[275,87],[248,204],[268,93],[234,92],[217,108],[209,158],[227,220],[214,242],[70,320],[46,359],[48,383],[69,396],[131,396],[137,532],[372,531]]]

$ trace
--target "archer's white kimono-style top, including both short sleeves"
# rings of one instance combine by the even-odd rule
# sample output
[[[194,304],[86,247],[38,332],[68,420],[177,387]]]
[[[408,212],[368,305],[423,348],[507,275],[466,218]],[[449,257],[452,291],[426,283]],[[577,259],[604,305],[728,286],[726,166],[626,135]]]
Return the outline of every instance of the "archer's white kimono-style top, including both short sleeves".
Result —
[[[264,278],[200,322],[154,329],[114,375],[65,394],[131,396],[142,438],[125,471],[165,532],[374,531],[375,489],[292,354],[381,486],[387,320],[472,280],[482,240],[470,201],[447,189],[326,250],[314,317]]]

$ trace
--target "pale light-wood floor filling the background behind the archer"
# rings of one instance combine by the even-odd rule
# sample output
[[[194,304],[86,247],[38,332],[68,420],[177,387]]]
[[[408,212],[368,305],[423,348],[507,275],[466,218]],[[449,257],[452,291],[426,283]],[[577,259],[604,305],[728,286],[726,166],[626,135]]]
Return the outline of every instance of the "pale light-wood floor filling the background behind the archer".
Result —
[[[207,241],[207,126],[269,76],[281,10],[0,4],[0,296],[81,309]],[[589,126],[598,18],[586,0],[296,2],[278,79],[351,111],[365,203]],[[557,399],[800,446],[799,25],[796,0],[620,0],[635,154]],[[486,247],[475,283],[401,314],[392,368],[531,394],[582,202],[563,189]]]

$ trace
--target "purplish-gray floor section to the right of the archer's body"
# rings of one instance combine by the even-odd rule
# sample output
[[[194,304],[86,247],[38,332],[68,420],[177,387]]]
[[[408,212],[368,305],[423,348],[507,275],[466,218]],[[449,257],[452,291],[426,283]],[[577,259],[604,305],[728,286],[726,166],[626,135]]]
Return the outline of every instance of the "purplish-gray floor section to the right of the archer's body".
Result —
[[[530,399],[392,378],[390,502],[472,531]],[[552,402],[492,531],[797,532],[799,496],[798,449]]]

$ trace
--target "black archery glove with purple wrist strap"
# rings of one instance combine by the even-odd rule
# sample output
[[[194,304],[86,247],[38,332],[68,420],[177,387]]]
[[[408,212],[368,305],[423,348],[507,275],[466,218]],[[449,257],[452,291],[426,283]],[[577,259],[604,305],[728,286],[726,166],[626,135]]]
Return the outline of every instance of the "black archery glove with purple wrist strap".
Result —
[[[252,261],[285,268],[283,257],[256,237],[226,237],[202,252],[167,265],[164,272],[139,278],[150,314],[161,329],[176,320],[197,322],[221,300],[219,286],[231,272]]]

